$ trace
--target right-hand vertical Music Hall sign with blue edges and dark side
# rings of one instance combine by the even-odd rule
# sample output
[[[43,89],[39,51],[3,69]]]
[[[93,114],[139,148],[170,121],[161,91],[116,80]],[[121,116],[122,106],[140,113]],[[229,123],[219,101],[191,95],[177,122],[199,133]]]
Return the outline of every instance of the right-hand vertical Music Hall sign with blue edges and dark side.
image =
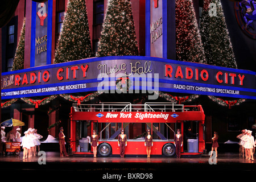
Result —
[[[146,56],[175,59],[175,36],[175,1],[146,0]]]

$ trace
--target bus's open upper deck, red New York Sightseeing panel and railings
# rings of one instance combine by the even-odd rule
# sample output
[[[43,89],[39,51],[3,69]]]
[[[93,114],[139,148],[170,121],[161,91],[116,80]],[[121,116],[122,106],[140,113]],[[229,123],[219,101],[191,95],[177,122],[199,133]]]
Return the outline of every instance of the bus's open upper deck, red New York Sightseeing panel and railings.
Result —
[[[129,102],[100,104],[73,104],[71,120],[98,122],[173,123],[177,121],[204,122],[201,105],[185,106],[174,102],[147,102],[143,105]]]

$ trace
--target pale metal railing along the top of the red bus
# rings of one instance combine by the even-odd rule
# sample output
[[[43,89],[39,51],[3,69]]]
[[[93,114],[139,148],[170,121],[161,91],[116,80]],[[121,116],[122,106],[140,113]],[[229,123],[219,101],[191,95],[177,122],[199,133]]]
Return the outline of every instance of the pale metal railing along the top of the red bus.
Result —
[[[184,106],[175,102],[146,102],[145,104],[131,104],[130,102],[102,102],[100,104],[77,104],[74,103],[75,111],[107,111],[107,112],[183,112],[199,111],[199,106]]]

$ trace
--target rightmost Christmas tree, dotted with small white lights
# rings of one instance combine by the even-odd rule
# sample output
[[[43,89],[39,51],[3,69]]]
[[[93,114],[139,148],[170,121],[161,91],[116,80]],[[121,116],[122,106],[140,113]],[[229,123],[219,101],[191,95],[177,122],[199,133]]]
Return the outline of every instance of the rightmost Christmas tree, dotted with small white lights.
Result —
[[[200,32],[207,64],[237,68],[220,0],[204,0]]]

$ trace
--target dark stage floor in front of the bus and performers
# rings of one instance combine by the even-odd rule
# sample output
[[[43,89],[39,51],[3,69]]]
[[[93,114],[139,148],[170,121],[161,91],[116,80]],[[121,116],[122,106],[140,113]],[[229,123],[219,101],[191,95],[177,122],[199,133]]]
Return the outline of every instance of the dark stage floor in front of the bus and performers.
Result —
[[[254,177],[255,160],[246,160],[238,154],[219,154],[217,159],[208,155],[197,158],[146,158],[144,156],[112,156],[108,158],[91,156],[69,156],[60,158],[58,152],[46,152],[42,156],[22,159],[19,156],[0,156],[1,174],[11,179],[74,181],[159,181],[171,179],[209,180],[221,175],[236,179],[243,173]],[[220,175],[220,176],[219,176]]]

